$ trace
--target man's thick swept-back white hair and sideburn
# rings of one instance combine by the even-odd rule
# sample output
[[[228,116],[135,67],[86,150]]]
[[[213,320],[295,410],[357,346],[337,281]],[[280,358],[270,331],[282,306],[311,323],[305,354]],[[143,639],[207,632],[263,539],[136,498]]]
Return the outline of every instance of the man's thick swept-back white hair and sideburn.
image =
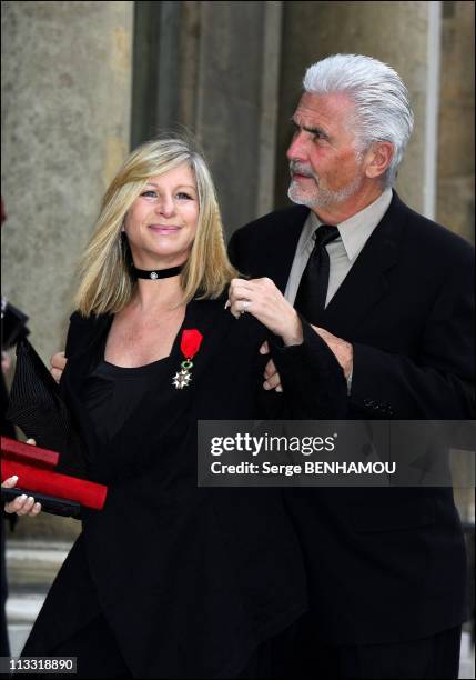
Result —
[[[307,69],[303,87],[311,94],[350,96],[355,104],[358,150],[378,141],[394,146],[392,162],[383,178],[386,186],[393,186],[414,120],[408,90],[398,73],[372,57],[333,54]]]

